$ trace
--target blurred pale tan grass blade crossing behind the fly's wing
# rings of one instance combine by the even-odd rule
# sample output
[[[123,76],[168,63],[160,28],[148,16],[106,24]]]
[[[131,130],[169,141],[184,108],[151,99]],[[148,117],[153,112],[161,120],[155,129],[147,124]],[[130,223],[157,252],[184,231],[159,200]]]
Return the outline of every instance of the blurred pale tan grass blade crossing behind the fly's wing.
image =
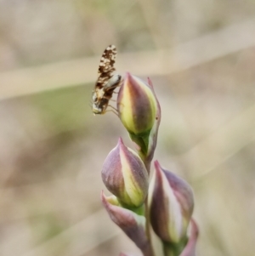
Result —
[[[118,70],[151,77],[184,71],[227,54],[251,48],[255,45],[254,34],[255,20],[247,20],[172,49],[119,54]],[[4,72],[0,74],[1,99],[94,82],[98,62],[99,57],[94,57]]]

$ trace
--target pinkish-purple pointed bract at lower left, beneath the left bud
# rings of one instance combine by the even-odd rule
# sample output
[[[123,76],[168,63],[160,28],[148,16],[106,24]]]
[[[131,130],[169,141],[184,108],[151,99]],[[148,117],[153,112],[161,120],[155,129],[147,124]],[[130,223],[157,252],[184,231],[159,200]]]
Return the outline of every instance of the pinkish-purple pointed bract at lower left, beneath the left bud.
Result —
[[[114,204],[111,197],[102,192],[101,200],[111,220],[140,248],[144,255],[152,256],[150,242],[145,234],[145,218],[137,213]],[[121,254],[125,255],[125,254]]]

